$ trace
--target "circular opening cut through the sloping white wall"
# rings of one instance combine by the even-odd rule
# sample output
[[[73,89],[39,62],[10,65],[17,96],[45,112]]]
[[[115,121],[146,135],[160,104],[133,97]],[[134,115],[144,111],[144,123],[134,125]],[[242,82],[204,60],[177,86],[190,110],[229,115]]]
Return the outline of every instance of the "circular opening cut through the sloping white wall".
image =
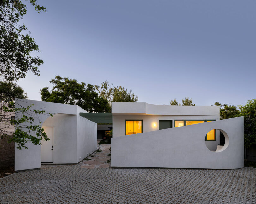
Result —
[[[223,130],[213,129],[206,134],[204,141],[210,151],[220,152],[227,148],[229,137]]]

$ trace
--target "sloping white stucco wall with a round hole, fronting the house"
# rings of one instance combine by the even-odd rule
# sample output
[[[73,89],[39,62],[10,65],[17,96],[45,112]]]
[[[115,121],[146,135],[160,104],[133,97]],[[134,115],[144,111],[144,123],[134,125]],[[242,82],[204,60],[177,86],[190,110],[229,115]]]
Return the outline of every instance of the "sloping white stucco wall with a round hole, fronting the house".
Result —
[[[219,129],[224,147],[210,151],[206,133]],[[244,167],[243,117],[113,137],[112,167],[234,169]]]

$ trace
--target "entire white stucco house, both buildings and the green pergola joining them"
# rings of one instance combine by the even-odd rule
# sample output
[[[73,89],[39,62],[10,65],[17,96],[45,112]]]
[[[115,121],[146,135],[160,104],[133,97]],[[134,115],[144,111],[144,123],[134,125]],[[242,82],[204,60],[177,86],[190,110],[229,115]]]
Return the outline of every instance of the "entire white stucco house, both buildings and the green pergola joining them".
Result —
[[[97,148],[97,123],[112,123],[112,167],[244,167],[243,117],[219,120],[218,106],[113,102],[112,113],[87,113],[77,105],[15,99],[15,107],[32,104],[54,115],[34,116],[50,141],[15,148],[15,170],[82,161]]]

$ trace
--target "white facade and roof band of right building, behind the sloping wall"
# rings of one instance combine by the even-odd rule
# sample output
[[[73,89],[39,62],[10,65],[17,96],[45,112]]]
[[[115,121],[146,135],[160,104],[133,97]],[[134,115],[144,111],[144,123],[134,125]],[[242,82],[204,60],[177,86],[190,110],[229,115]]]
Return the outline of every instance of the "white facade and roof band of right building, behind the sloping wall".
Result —
[[[113,138],[125,135],[125,120],[143,120],[143,133],[159,130],[159,120],[219,120],[219,106],[171,106],[147,103],[112,103]],[[153,124],[156,124],[154,126]],[[216,141],[205,141],[210,150],[220,144],[219,131]]]

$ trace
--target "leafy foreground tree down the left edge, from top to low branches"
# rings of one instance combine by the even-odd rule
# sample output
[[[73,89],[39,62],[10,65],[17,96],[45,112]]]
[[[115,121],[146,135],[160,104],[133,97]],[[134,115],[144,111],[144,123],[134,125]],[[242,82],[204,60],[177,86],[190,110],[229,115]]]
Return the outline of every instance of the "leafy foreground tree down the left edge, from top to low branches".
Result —
[[[36,0],[29,0],[40,13],[46,11]],[[21,0],[0,0],[0,136],[8,137],[8,142],[15,142],[17,148],[27,148],[27,141],[40,144],[47,141],[47,135],[40,126],[34,126],[32,115],[44,114],[44,110],[30,110],[31,106],[14,108],[14,98],[26,98],[24,90],[13,83],[25,78],[28,71],[39,76],[38,66],[43,64],[39,57],[31,56],[35,51],[40,52],[34,38],[27,31],[26,25],[19,25],[20,20],[27,13],[27,7]],[[17,102],[16,102],[17,103]],[[10,114],[21,112],[20,118],[11,119]],[[51,114],[50,114],[51,115]],[[25,125],[30,123],[31,125]],[[12,127],[12,128],[9,128]],[[15,128],[15,131],[14,131]],[[9,131],[11,130],[11,131]],[[35,133],[36,137],[31,135]]]

